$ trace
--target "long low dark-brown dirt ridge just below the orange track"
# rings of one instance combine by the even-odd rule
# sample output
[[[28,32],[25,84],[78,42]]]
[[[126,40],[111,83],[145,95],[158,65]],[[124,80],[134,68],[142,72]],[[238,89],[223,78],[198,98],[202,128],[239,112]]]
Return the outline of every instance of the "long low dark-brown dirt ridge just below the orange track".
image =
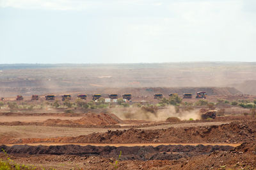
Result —
[[[116,157],[122,151],[122,160],[177,160],[182,157],[192,157],[200,154],[211,153],[212,151],[229,151],[232,146],[0,146],[0,149],[12,154],[29,154],[29,155],[98,155],[100,157]]]

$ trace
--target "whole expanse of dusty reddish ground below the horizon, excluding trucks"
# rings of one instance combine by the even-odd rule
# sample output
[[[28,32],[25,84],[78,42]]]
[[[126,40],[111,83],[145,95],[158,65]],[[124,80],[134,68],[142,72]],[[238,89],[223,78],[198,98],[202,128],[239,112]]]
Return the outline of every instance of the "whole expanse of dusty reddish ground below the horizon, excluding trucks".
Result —
[[[255,63],[0,69],[1,161],[35,169],[256,168]],[[197,91],[207,98],[195,98]],[[56,100],[45,101],[50,93]],[[72,100],[61,101],[65,93]],[[77,100],[80,93],[87,100]],[[95,93],[131,93],[132,100],[92,102]],[[200,109],[216,118],[203,120]]]

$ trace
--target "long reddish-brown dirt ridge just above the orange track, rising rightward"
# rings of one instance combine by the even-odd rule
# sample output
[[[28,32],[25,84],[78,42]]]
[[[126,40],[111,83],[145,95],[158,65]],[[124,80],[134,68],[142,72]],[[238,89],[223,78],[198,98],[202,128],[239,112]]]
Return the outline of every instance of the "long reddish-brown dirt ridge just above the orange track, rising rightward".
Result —
[[[78,137],[12,139],[10,143],[243,143],[255,141],[256,121],[206,127],[116,130]]]

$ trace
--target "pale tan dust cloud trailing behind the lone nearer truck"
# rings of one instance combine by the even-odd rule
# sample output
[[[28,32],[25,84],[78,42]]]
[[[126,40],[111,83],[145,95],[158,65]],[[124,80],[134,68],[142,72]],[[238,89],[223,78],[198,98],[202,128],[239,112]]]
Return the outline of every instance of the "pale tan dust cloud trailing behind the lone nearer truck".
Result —
[[[111,112],[119,118],[132,120],[148,120],[148,121],[165,121],[167,118],[176,117],[180,120],[200,120],[198,110],[193,111],[175,111],[174,106],[168,106],[164,109],[159,109],[156,112],[145,112],[140,107],[130,108],[113,108]]]

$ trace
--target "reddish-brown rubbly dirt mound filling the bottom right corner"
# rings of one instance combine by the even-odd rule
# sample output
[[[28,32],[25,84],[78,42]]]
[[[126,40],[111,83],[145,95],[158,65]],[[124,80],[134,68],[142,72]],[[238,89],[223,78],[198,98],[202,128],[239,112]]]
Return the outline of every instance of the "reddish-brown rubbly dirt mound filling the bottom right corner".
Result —
[[[182,162],[182,169],[255,169],[256,143],[243,143],[230,151],[213,151],[207,156],[200,155]],[[202,164],[202,162],[204,162]]]

